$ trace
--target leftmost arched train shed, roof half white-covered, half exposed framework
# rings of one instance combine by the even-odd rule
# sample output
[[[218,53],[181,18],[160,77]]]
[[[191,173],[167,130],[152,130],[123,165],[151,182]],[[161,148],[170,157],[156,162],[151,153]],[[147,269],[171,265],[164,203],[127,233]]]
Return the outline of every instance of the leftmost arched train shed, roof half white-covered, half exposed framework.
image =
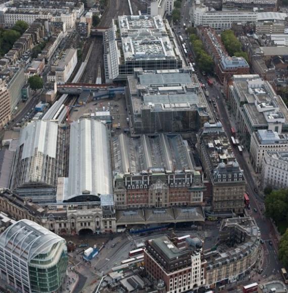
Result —
[[[62,134],[58,124],[50,121],[34,121],[21,130],[10,179],[12,190],[35,203],[56,200],[59,170],[64,172]]]

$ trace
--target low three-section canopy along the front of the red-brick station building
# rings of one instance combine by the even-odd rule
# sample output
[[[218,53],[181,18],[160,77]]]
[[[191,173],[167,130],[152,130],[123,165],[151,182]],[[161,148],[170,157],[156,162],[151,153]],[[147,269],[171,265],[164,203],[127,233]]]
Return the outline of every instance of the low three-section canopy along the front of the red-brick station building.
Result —
[[[166,209],[118,210],[116,224],[153,224],[177,222],[204,222],[205,215],[201,206]]]

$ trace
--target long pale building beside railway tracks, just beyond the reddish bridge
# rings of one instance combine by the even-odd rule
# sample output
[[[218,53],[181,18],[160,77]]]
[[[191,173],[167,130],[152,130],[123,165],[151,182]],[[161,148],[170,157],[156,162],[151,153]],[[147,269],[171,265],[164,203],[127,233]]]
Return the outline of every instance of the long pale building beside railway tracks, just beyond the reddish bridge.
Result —
[[[77,65],[77,50],[69,48],[59,55],[59,59],[52,64],[51,70],[55,71],[55,81],[61,84],[69,79]]]

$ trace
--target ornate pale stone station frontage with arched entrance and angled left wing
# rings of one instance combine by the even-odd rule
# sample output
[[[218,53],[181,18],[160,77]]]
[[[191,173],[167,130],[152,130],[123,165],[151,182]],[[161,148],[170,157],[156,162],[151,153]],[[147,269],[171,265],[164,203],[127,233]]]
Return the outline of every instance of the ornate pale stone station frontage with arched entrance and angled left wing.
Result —
[[[0,193],[0,208],[16,220],[28,219],[58,235],[78,235],[83,231],[116,232],[113,197],[104,196],[100,202],[51,204],[41,207],[22,199],[10,190]]]

